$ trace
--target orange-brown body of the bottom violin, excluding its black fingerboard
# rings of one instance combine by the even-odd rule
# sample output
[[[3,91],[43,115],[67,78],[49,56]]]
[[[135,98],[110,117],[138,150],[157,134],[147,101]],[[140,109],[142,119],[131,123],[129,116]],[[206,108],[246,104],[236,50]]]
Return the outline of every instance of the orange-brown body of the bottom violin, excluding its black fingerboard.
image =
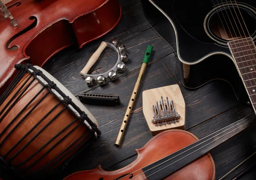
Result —
[[[194,135],[189,132],[174,129],[161,132],[154,136],[145,146],[137,149],[138,157],[130,165],[116,170],[107,172],[98,166],[96,169],[81,171],[70,174],[64,180],[151,180],[146,177],[143,167],[154,163],[167,155],[172,154],[189,144],[198,141]],[[166,171],[168,169],[166,168]],[[192,163],[184,166],[178,171],[170,174],[166,180],[214,180],[215,165],[210,154],[206,154]]]

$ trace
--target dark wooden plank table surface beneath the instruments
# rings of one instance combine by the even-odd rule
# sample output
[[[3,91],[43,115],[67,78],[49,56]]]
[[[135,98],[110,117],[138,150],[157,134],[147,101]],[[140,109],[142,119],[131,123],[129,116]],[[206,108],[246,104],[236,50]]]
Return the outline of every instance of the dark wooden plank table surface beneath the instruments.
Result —
[[[120,3],[122,18],[113,31],[80,50],[74,46],[61,51],[43,67],[74,95],[79,92],[116,94],[120,96],[122,102],[122,105],[116,107],[85,105],[99,122],[101,138],[76,156],[64,172],[55,175],[52,179],[61,180],[73,172],[93,169],[99,164],[103,169],[110,171],[131,163],[137,157],[135,149],[141,148],[153,137],[143,115],[143,90],[179,84],[186,102],[186,130],[199,139],[252,112],[249,107],[237,101],[232,87],[227,82],[212,81],[195,90],[183,87],[180,82],[180,70],[177,68],[178,59],[172,48],[146,22],[140,0],[120,0]],[[170,33],[173,34],[172,31]],[[112,38],[119,39],[128,49],[130,60],[126,63],[125,72],[119,75],[119,79],[115,82],[105,86],[99,87],[96,84],[87,87],[84,79],[78,76],[80,70],[96,51],[100,42],[110,42]],[[173,48],[176,49],[175,39],[173,42]],[[122,146],[116,148],[114,146],[116,135],[147,45],[154,46],[153,56],[137,95]],[[92,73],[109,70],[116,58],[116,52],[107,49],[93,66]],[[256,126],[246,129],[210,152],[215,162],[217,180],[256,151],[255,129]],[[255,160],[256,158],[244,163],[227,179],[243,171]],[[241,179],[255,180],[256,171],[250,170]]]

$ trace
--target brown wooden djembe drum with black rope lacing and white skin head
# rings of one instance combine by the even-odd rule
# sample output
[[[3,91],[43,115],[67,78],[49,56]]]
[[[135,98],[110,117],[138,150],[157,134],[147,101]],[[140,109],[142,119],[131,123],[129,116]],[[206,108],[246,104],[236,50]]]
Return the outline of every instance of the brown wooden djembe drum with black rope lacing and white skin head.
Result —
[[[0,97],[0,164],[11,178],[38,179],[67,163],[100,131],[84,105],[45,70],[15,68],[19,73]]]

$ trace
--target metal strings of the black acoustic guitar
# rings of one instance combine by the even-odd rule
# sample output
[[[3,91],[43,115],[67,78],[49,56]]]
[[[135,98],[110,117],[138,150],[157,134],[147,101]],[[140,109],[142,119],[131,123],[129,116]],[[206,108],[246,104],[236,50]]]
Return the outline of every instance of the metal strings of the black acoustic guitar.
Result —
[[[227,1],[227,0],[226,0]],[[234,7],[234,5],[233,5],[233,3],[232,3],[232,1],[230,0],[230,3],[231,3],[231,5],[232,5],[232,7],[233,7],[233,9],[234,9],[234,11],[235,11],[235,13],[236,13],[236,10],[235,10],[235,7]],[[236,3],[236,0],[235,0],[235,3]],[[241,14],[241,11],[240,11],[240,9],[239,9],[239,6],[238,6],[238,4],[236,3],[236,6],[237,6],[237,8],[238,8],[238,10],[239,10],[239,12],[240,12],[240,15],[241,15],[241,18],[243,19],[243,21],[244,21],[244,18],[243,18],[243,16],[242,16],[242,14]],[[230,7],[229,7],[230,8]],[[230,12],[231,12],[231,9],[230,9]],[[231,14],[232,14],[232,12],[231,12]],[[233,17],[233,14],[232,14],[232,17]],[[239,21],[239,24],[240,24],[240,26],[241,26],[241,29],[242,29],[242,31],[243,31],[243,33],[244,33],[244,36],[245,36],[245,39],[246,39],[246,41],[247,41],[247,36],[246,36],[246,34],[245,34],[245,32],[244,32],[244,28],[243,28],[243,26],[241,25],[241,22],[240,22],[240,20],[239,20],[239,17],[238,17],[238,14],[236,13],[236,17],[237,17],[237,20]],[[233,17],[233,20],[235,21],[235,23],[236,23],[236,20],[235,20],[235,18]],[[244,25],[245,25],[245,27],[247,28],[247,26],[246,26],[246,24],[245,24],[245,22],[244,22]],[[236,26],[237,26],[237,24],[236,24]],[[237,26],[237,28],[238,28],[238,26]],[[238,28],[238,31],[239,31],[239,28]],[[248,29],[247,29],[247,32],[248,32],[248,35],[249,35],[249,37],[248,38],[250,38],[250,33],[249,33],[249,31],[248,31]],[[240,33],[240,31],[239,31],[239,34],[240,34],[240,36],[241,36],[241,33]],[[242,37],[242,36],[241,36]],[[246,48],[246,46],[245,46],[245,42],[244,42],[244,38],[242,38],[241,39],[241,43],[243,43],[244,44],[244,48],[247,50],[247,48]],[[252,42],[253,42],[253,40],[252,40]],[[249,42],[247,42],[248,43],[248,45],[250,44]],[[254,42],[253,42],[253,44],[254,44]],[[236,45],[236,44],[235,44]],[[237,49],[237,46],[236,46],[236,49]],[[255,49],[255,48],[254,48]],[[237,49],[238,50],[238,49]],[[255,49],[256,50],[256,49]],[[251,54],[252,54],[252,56],[253,56],[253,59],[250,59],[250,56],[246,56],[246,54],[244,54],[244,52],[242,52],[242,54],[243,54],[243,56],[244,56],[244,59],[246,59],[246,64],[247,64],[247,66],[250,68],[250,67],[252,67],[252,69],[253,69],[253,72],[255,72],[255,68],[254,68],[254,66],[255,65],[253,65],[253,60],[255,60],[255,56],[253,55],[253,49],[250,49],[250,50],[247,50],[247,51],[251,51]],[[249,55],[249,53],[248,53],[248,55]],[[247,57],[248,57],[248,59],[247,59]],[[236,59],[235,59],[235,61],[236,61]],[[248,61],[251,61],[251,66],[249,65],[249,62]],[[242,62],[243,64],[244,64],[244,62]],[[250,68],[251,69],[251,68]],[[246,71],[247,72],[247,71]],[[252,77],[253,77],[253,73],[251,73],[251,75],[252,75]],[[250,79],[250,77],[249,77],[249,74],[245,74],[244,76],[247,76],[248,77],[248,79]],[[242,77],[242,75],[241,75],[241,77]],[[256,80],[255,80],[255,78],[256,77],[253,77],[253,81],[254,81],[254,83],[255,83],[255,85],[256,85]],[[243,80],[243,82],[244,82],[244,79],[243,79],[243,77],[242,77],[242,80]],[[249,80],[249,82],[250,82],[250,84],[251,84],[251,86],[253,86],[253,84],[252,84],[252,82],[251,82],[251,80]],[[244,84],[245,84],[245,82],[244,82]],[[247,90],[247,92],[249,93],[249,91]],[[250,95],[250,93],[249,93],[249,95]],[[250,96],[249,96],[249,98],[250,98]],[[252,100],[253,100],[253,98],[251,98]],[[252,102],[253,103],[253,102]],[[252,106],[253,106],[253,104],[252,104]]]

